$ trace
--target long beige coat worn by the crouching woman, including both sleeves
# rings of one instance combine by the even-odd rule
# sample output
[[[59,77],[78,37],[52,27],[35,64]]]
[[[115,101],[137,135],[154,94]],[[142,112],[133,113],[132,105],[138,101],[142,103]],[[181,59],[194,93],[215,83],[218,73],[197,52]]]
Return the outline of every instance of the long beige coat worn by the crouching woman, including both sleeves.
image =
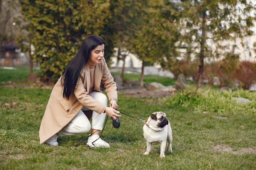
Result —
[[[109,100],[111,98],[117,99],[116,83],[108,70],[105,59],[95,66],[94,90],[100,92],[101,82],[106,88]],[[88,64],[86,64],[82,70],[77,87],[71,94],[69,100],[66,100],[62,96],[62,84],[59,78],[52,89],[42,118],[39,130],[40,144],[44,143],[47,139],[65,127],[83,106],[86,106],[97,113],[102,113],[102,111],[104,111],[106,106],[88,95],[89,88],[90,70]]]

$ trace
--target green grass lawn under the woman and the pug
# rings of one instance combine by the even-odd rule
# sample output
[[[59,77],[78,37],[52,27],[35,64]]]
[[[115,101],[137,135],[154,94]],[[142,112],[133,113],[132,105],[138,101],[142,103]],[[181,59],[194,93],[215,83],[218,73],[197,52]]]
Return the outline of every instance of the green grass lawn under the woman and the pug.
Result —
[[[172,98],[120,94],[119,109],[134,117],[147,119],[154,111],[167,114],[173,153],[166,151],[165,158],[159,156],[159,144],[153,145],[149,155],[143,155],[143,124],[126,115],[122,115],[118,129],[107,122],[102,138],[110,143],[110,149],[75,147],[88,133],[60,137],[59,147],[39,145],[38,131],[50,92],[43,88],[0,87],[0,169],[256,169],[255,154],[213,149],[216,145],[228,145],[233,150],[256,149],[255,92],[203,88],[195,94],[189,88]],[[252,103],[241,105],[230,100],[237,96]]]

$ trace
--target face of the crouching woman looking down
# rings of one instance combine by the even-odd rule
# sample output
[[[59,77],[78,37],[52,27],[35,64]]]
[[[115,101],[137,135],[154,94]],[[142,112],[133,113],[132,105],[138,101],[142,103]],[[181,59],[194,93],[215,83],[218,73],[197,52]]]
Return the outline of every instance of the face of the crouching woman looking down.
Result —
[[[90,59],[88,61],[89,65],[92,66],[94,64],[98,64],[102,61],[104,57],[104,48],[105,45],[98,45],[95,49],[91,51]]]

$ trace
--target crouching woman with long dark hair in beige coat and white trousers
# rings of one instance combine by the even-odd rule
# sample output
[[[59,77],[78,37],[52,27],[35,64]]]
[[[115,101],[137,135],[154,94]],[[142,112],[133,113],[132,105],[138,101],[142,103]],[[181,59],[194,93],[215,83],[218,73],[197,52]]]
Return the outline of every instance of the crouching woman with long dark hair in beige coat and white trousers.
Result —
[[[89,35],[68,63],[46,106],[39,130],[40,144],[46,142],[58,146],[58,136],[86,133],[91,129],[92,136],[87,142],[89,147],[110,147],[98,134],[106,113],[114,119],[120,115],[116,111],[116,83],[104,59],[104,46],[105,41],[101,37]],[[101,82],[111,107],[106,107],[107,98],[100,92]]]

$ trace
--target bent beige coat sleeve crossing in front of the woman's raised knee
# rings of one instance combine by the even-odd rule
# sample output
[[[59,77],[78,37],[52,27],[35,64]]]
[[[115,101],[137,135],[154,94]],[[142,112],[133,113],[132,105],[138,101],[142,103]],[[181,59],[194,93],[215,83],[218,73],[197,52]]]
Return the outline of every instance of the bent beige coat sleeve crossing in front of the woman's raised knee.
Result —
[[[77,100],[82,105],[88,107],[88,109],[96,111],[99,114],[105,110],[106,106],[104,106],[104,104],[100,103],[98,100],[95,100],[94,98],[88,95],[88,92],[84,88],[84,84],[81,76],[79,77],[76,86],[77,87],[74,90],[74,94]]]

